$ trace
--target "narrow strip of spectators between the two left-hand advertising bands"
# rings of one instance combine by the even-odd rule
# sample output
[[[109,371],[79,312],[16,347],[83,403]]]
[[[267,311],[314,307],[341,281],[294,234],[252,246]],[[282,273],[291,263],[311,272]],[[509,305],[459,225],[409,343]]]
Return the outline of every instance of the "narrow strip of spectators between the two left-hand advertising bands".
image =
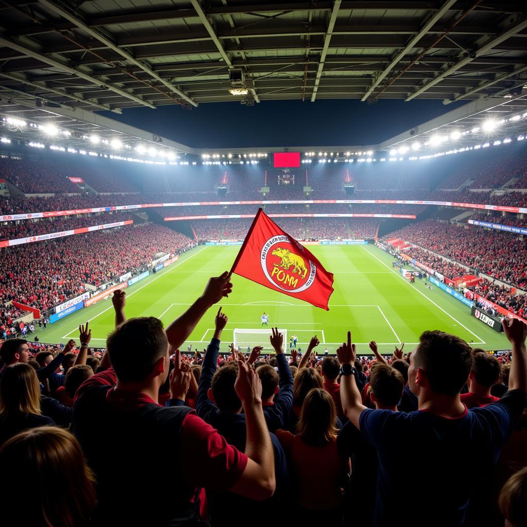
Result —
[[[103,225],[104,223],[114,223],[117,221],[131,220],[132,216],[128,212],[94,213],[78,218],[50,218],[43,220],[23,220],[16,222],[6,222],[0,226],[0,240],[13,240],[30,236],[39,236],[50,232],[60,232],[70,229],[80,229],[81,227],[91,227]]]

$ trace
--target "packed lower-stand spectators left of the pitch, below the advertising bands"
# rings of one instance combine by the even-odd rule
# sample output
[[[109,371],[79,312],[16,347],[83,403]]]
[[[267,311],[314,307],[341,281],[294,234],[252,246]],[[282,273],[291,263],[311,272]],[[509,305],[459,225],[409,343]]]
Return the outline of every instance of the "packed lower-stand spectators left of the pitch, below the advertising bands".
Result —
[[[179,253],[192,240],[166,227],[126,226],[2,249],[0,304],[16,300],[46,310],[137,271],[159,252]]]

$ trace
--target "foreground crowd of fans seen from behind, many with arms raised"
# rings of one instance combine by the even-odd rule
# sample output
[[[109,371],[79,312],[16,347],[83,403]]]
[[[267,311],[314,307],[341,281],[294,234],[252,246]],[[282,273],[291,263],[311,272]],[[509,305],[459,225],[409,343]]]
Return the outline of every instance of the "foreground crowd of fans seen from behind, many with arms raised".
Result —
[[[442,331],[406,355],[371,341],[374,356],[357,357],[348,331],[336,357],[317,355],[316,336],[288,357],[277,329],[271,357],[220,356],[220,307],[204,353],[181,352],[232,295],[226,271],[164,329],[127,320],[115,291],[103,354],[89,324],[64,347],[2,343],[0,492],[17,524],[525,525],[522,321],[504,320],[512,352],[499,358]],[[43,482],[31,499],[28,478]]]

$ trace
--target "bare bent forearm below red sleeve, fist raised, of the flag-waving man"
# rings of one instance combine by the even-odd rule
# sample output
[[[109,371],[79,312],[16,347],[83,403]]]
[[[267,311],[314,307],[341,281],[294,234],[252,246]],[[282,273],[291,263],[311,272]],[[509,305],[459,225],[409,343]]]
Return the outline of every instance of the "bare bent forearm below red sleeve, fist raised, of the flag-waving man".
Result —
[[[249,459],[231,491],[253,500],[266,500],[275,492],[275,455],[262,410],[260,378],[243,359],[238,360],[235,389],[245,412],[245,453]]]

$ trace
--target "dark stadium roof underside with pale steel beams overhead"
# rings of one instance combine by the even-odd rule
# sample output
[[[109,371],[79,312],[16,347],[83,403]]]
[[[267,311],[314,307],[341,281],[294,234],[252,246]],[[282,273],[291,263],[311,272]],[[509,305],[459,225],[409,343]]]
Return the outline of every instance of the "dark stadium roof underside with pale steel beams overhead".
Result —
[[[3,0],[0,14],[0,96],[21,104],[449,102],[527,82],[524,0]]]

